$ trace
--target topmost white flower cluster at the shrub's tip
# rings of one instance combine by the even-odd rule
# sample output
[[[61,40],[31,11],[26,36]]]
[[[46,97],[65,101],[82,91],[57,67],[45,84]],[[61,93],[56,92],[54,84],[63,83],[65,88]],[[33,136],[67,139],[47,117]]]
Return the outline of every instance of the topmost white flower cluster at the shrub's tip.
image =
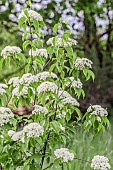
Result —
[[[35,19],[35,20],[37,20],[37,21],[43,21],[42,16],[41,16],[38,12],[33,11],[33,10],[29,10],[29,11],[28,11],[28,17],[25,15],[24,12],[22,12],[22,13],[19,15],[18,19],[21,19],[22,17],[25,17],[26,19],[29,19],[29,18],[30,18],[30,20],[34,20],[34,19]]]

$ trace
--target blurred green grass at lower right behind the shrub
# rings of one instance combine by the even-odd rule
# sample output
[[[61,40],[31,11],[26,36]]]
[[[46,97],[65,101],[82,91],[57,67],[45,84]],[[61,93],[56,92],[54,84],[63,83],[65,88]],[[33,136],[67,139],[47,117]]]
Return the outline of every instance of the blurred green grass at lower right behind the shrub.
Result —
[[[103,155],[109,158],[111,170],[113,169],[113,120],[109,129],[104,133],[99,133],[93,138],[93,134],[86,133],[80,128],[75,129],[76,134],[67,148],[74,150],[76,158],[91,162],[95,155]],[[61,170],[60,167],[50,168],[49,170]],[[64,169],[66,170],[66,169]],[[91,164],[75,159],[71,170],[91,170]]]

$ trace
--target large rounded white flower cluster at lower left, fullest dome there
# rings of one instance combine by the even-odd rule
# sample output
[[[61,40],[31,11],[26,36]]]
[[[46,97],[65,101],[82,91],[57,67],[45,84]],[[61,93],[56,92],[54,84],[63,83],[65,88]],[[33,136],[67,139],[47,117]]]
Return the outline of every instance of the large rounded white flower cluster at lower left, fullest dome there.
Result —
[[[44,128],[38,123],[30,123],[24,127],[23,132],[27,137],[39,137],[43,135]]]

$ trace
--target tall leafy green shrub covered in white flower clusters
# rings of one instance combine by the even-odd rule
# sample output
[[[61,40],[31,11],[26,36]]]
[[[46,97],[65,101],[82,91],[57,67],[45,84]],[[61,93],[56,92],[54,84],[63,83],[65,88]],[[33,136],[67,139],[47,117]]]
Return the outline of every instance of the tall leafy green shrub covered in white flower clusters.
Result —
[[[77,121],[81,120],[77,98],[85,93],[80,81],[83,73],[86,80],[92,78],[92,61],[76,56],[73,47],[76,40],[70,31],[57,35],[58,27],[65,28],[66,21],[54,26],[55,37],[43,46],[43,28],[40,14],[24,9],[19,15],[19,26],[23,29],[23,50],[30,46],[25,57],[16,46],[7,46],[2,52],[2,63],[27,60],[21,77],[12,77],[8,83],[0,84],[0,162],[4,170],[71,170],[73,150],[66,148]],[[65,30],[65,29],[64,29]],[[75,95],[73,95],[75,94]],[[33,107],[31,115],[17,116],[12,110],[20,105]],[[76,113],[76,121],[70,122]],[[93,129],[97,134],[109,125],[107,110],[99,105],[89,106],[83,117],[85,130]],[[19,127],[23,122],[24,126]],[[72,134],[73,132],[73,134]],[[75,135],[76,137],[76,135]],[[80,146],[81,147],[81,146]],[[94,170],[108,170],[110,164],[104,156],[95,156],[91,163]]]

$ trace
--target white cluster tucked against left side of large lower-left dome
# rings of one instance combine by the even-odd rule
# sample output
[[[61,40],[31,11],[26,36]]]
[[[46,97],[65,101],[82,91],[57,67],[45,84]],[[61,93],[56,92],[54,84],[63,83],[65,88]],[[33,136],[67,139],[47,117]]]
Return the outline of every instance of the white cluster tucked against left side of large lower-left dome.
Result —
[[[22,131],[19,131],[19,132],[15,132],[15,133],[12,135],[12,140],[13,140],[13,141],[18,141],[18,140],[20,140],[21,142],[24,142],[23,130],[22,130]]]

